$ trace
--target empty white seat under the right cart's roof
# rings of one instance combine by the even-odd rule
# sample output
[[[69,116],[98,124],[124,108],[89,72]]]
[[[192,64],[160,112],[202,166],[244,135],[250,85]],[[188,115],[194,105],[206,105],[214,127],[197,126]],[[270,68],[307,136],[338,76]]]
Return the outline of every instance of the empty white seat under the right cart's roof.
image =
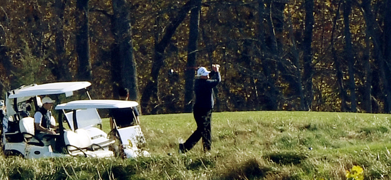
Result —
[[[76,129],[75,131],[64,131],[64,140],[70,155],[84,155],[92,157],[111,157],[114,156],[113,151],[97,149],[92,146],[91,137],[85,129]]]

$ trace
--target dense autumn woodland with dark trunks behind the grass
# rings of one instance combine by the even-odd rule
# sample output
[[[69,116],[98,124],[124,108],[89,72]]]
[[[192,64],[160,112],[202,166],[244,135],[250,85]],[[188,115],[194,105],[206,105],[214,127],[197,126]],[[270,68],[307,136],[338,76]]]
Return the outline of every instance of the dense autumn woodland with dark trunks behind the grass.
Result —
[[[217,111],[391,111],[391,0],[0,0],[0,91],[88,80],[143,114],[191,111],[221,64]],[[2,96],[4,98],[4,96]]]

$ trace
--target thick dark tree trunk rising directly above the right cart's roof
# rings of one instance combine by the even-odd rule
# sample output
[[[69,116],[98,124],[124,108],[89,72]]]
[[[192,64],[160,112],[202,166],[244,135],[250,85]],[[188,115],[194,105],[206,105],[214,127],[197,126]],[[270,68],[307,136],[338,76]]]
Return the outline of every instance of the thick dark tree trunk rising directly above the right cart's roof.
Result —
[[[136,62],[133,58],[133,42],[129,8],[124,0],[112,0],[114,12],[114,38],[118,44],[121,64],[120,86],[129,89],[129,99],[138,101]]]

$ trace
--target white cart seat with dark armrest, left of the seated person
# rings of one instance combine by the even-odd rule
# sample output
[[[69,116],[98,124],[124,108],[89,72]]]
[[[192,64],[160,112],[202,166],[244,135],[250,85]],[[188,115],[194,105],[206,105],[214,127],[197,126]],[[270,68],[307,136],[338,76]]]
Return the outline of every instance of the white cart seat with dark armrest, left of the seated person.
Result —
[[[32,145],[49,145],[49,143],[44,143],[42,139],[39,139],[35,136],[34,132],[34,118],[33,117],[24,117],[19,121],[19,129],[25,139],[25,142]]]

